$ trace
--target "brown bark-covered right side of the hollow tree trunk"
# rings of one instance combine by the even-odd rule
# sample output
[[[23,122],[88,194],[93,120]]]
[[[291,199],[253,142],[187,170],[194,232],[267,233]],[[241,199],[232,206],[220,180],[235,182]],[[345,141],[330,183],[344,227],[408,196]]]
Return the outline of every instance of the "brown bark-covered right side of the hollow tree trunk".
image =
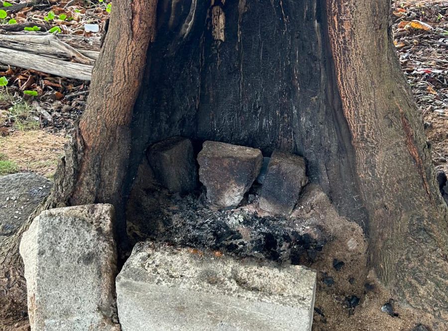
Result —
[[[406,303],[448,321],[447,205],[393,48],[390,1],[327,5],[337,86],[369,216],[370,263]]]

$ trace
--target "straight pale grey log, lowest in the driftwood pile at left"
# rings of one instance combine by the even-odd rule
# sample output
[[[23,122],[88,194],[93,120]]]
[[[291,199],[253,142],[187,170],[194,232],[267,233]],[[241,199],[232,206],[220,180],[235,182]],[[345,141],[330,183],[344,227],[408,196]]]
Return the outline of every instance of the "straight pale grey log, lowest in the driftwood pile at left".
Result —
[[[41,55],[2,47],[0,48],[0,61],[6,65],[33,69],[60,77],[74,78],[83,81],[90,81],[92,78],[93,66],[91,65],[50,59]]]

